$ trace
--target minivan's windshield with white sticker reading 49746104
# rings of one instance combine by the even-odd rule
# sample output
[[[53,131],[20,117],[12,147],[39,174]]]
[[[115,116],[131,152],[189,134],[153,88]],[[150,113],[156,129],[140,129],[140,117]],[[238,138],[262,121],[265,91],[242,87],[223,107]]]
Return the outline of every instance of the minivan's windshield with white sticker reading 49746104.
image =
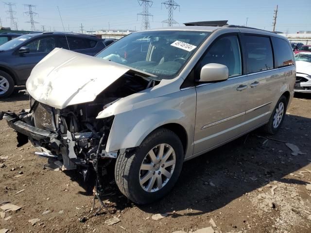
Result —
[[[114,42],[96,56],[157,76],[173,79],[210,32],[146,31]]]

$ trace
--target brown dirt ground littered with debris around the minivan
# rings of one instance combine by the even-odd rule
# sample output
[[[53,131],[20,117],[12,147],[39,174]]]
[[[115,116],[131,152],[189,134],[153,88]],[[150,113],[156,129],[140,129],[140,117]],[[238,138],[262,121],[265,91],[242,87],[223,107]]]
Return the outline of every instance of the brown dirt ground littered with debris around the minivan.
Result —
[[[17,111],[28,104],[28,97],[16,90],[11,98],[0,100],[0,110]],[[267,136],[293,143],[306,154],[294,156],[284,142],[267,140]],[[104,198],[110,213],[101,211],[84,223],[79,218],[90,212],[93,197],[81,176],[43,169],[47,159],[34,152],[30,143],[17,148],[16,133],[0,121],[0,163],[6,165],[0,168],[0,206],[9,201],[22,207],[5,213],[0,229],[14,233],[194,232],[211,226],[212,218],[216,233],[311,233],[311,95],[295,95],[277,134],[257,130],[186,162],[172,192],[162,200],[137,206],[112,184],[114,194]],[[24,191],[17,193],[20,190]],[[100,205],[96,202],[95,206]],[[168,216],[152,220],[158,213]],[[113,216],[121,221],[105,224]],[[40,220],[32,225],[28,220],[34,218]]]

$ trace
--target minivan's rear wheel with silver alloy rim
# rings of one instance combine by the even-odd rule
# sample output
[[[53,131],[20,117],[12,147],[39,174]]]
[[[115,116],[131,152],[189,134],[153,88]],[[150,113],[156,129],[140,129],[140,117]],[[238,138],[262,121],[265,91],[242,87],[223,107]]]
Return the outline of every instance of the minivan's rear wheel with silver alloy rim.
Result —
[[[287,104],[287,98],[285,96],[281,96],[276,103],[276,107],[270,116],[269,122],[263,128],[266,133],[275,134],[281,127],[286,115]]]

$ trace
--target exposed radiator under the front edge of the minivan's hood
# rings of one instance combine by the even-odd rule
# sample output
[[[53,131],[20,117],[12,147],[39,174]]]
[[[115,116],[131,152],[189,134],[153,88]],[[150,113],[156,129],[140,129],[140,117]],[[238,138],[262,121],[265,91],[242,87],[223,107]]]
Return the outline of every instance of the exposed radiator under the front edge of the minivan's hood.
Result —
[[[34,103],[35,100],[31,98],[30,106],[32,107]],[[58,122],[58,115],[53,107],[38,102],[33,109],[33,113],[35,127],[49,131],[56,131],[54,125]]]

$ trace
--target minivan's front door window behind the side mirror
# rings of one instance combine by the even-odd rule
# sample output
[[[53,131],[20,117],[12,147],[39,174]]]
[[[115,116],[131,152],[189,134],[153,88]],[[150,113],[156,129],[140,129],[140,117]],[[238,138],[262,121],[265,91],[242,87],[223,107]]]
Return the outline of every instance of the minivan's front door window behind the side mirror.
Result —
[[[241,75],[242,62],[238,36],[224,36],[212,44],[201,58],[199,70],[209,63],[218,63],[228,67],[229,78]]]

